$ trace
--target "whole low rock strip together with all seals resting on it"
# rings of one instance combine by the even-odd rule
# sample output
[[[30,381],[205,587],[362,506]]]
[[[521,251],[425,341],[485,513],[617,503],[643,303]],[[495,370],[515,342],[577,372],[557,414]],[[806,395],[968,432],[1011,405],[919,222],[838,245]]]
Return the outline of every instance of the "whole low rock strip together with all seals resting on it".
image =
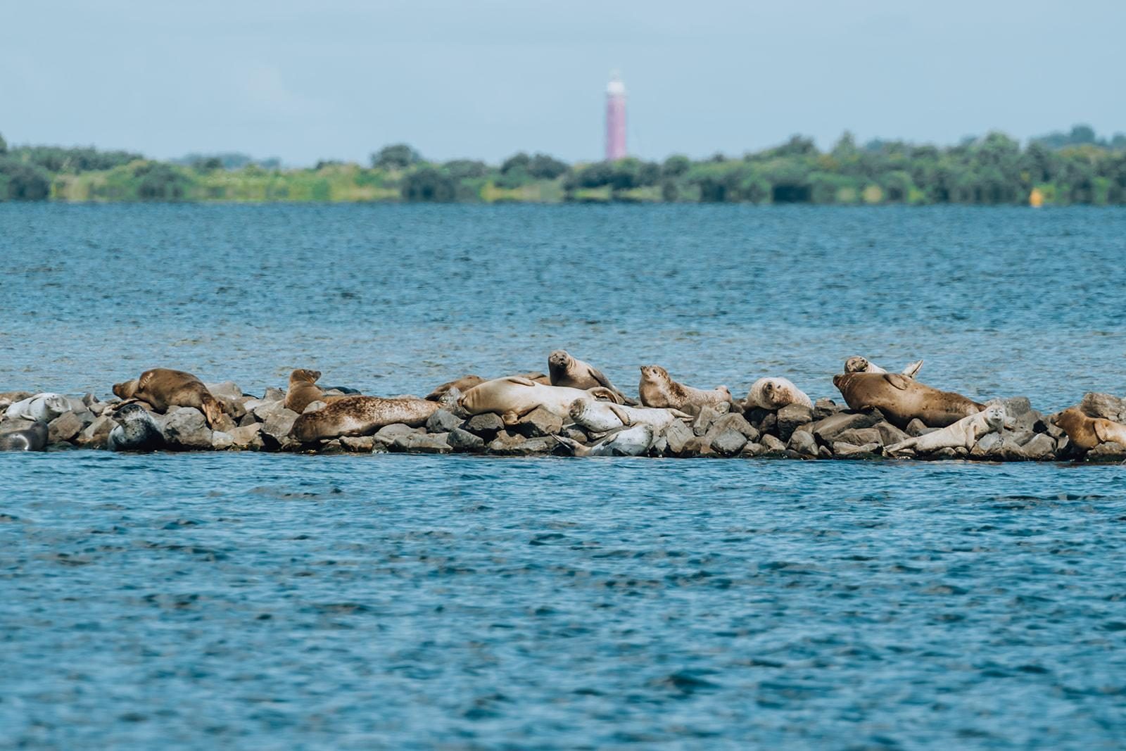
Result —
[[[1055,414],[1027,397],[978,402],[890,373],[866,357],[833,376],[843,403],[811,400],[784,377],[745,400],[641,366],[637,397],[564,350],[538,372],[467,375],[426,397],[321,387],[296,368],[261,396],[169,368],[113,386],[116,399],[0,393],[0,450],[468,453],[495,456],[775,457],[799,459],[1126,459],[1126,399],[1089,393]]]

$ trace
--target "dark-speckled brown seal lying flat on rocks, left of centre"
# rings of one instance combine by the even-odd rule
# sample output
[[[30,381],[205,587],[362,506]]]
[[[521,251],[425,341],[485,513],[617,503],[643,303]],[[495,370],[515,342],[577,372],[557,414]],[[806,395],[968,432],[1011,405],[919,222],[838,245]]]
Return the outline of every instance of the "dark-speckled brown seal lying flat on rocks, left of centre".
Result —
[[[323,438],[366,436],[396,422],[417,428],[439,409],[439,402],[425,399],[345,396],[323,410],[298,415],[289,436],[307,444]]]

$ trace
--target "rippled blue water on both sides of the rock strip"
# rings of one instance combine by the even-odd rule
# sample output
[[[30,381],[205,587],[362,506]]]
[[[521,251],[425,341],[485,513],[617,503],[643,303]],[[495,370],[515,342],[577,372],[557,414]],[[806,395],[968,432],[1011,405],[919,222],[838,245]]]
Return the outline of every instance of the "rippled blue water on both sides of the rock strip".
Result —
[[[1119,209],[0,205],[0,391],[1123,394]],[[1108,302],[1110,301],[1110,302]],[[1116,749],[1126,468],[0,454],[0,748]]]

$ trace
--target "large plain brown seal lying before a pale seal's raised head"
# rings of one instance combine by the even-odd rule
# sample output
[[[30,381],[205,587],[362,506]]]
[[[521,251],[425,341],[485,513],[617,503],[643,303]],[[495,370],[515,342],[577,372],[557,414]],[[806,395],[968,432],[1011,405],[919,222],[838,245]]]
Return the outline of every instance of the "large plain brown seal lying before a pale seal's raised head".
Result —
[[[929,428],[945,428],[985,409],[962,394],[939,391],[900,373],[842,373],[833,376],[849,409],[878,409],[901,430],[918,418]]]

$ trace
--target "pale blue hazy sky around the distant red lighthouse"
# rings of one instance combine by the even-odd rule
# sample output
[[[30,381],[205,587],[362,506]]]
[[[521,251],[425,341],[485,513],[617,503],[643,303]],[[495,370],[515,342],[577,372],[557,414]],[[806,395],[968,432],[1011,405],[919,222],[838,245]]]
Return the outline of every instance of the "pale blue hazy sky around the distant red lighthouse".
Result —
[[[0,3],[0,134],[169,159],[595,161],[793,134],[957,143],[1126,131],[1126,2],[59,0]]]

